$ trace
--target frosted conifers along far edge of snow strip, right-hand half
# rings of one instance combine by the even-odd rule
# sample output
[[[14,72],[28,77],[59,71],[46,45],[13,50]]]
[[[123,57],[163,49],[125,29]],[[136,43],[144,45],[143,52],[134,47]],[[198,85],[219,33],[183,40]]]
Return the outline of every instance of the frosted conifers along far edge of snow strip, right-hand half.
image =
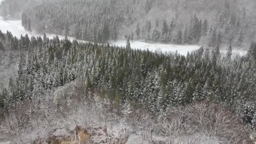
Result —
[[[220,13],[219,21],[209,24],[208,19],[199,19],[196,15],[191,21],[184,24],[184,21],[173,18],[168,24],[163,19],[162,27],[159,27],[159,21],[156,19],[155,28],[152,29],[151,21],[138,28],[141,31],[139,38],[146,41],[191,44],[206,42],[208,46],[215,47],[222,43],[241,46],[244,40],[244,33],[240,26],[240,17],[234,16],[230,11]],[[140,36],[140,37],[139,37]]]

